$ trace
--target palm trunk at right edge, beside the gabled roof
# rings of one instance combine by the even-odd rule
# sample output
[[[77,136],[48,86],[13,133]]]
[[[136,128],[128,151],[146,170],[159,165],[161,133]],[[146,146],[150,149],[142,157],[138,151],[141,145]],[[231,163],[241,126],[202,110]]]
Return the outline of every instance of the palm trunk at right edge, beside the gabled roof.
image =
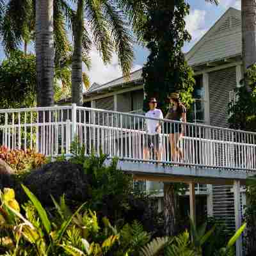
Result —
[[[243,68],[246,69],[256,63],[256,2],[242,0],[242,42]],[[245,79],[246,83],[246,79]],[[248,83],[246,83],[248,86]]]

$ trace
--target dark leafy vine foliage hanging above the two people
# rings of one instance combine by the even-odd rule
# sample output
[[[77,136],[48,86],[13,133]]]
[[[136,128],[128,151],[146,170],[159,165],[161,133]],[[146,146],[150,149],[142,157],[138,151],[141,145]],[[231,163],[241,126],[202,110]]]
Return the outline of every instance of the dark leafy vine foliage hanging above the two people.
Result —
[[[189,14],[189,5],[185,1],[168,0],[146,3],[147,19],[142,29],[150,54],[142,76],[147,99],[157,97],[160,107],[164,108],[168,94],[180,92],[182,101],[189,105],[195,81],[182,52],[184,42],[191,39],[184,20]]]

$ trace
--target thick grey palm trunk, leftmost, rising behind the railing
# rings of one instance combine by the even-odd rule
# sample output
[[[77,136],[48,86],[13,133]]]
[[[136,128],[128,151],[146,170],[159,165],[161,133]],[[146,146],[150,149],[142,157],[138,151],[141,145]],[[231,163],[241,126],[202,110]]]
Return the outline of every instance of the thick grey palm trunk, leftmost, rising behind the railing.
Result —
[[[37,106],[54,105],[53,1],[36,0]]]

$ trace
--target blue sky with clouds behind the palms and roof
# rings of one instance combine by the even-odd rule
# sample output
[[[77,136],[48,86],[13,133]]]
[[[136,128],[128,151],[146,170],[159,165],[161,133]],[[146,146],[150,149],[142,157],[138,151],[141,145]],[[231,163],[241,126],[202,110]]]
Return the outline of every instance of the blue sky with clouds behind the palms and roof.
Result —
[[[187,0],[190,4],[190,14],[186,18],[186,26],[192,35],[192,40],[184,47],[184,52],[189,51],[191,47],[211,28],[211,26],[232,6],[241,10],[241,0],[220,0],[220,5],[205,3],[205,0]],[[89,77],[90,83],[106,83],[122,76],[122,71],[118,66],[117,56],[114,54],[111,64],[108,66],[102,63],[99,53],[92,49],[91,52],[92,68],[85,70]],[[147,61],[147,49],[134,45],[134,63],[132,70],[136,70],[143,66]],[[4,59],[3,50],[0,49],[0,59]]]

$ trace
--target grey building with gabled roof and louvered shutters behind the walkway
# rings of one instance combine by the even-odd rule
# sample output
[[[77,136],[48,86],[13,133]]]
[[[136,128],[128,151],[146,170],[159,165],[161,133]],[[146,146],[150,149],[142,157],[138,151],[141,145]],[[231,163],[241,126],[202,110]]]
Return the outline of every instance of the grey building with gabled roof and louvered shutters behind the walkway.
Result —
[[[228,127],[228,104],[242,79],[241,11],[229,8],[186,54],[195,72],[193,122]],[[85,93],[85,106],[121,112],[143,113],[142,70],[106,84],[92,84]],[[148,188],[159,185],[150,183]],[[199,188],[207,196],[207,213],[235,227],[234,193],[231,186],[207,185]],[[163,195],[160,195],[162,198]],[[244,194],[242,193],[243,204]],[[161,202],[159,202],[161,205]]]

